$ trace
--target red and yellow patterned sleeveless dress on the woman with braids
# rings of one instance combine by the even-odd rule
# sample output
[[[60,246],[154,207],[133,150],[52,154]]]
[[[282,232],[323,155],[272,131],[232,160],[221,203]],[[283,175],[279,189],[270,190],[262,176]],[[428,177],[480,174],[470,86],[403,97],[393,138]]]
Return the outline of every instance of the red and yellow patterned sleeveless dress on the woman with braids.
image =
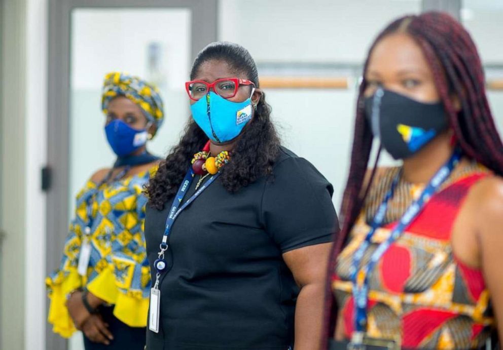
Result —
[[[337,260],[332,286],[342,313],[344,336],[354,327],[352,256],[370,230],[377,207],[399,168],[374,180],[362,214]],[[451,229],[470,188],[490,172],[475,163],[458,166],[424,210],[381,257],[369,276],[367,336],[393,339],[404,348],[465,349],[483,345],[494,330],[482,271],[452,253]],[[377,185],[376,185],[377,184]],[[422,188],[401,180],[389,202],[385,225],[366,251],[367,264]]]

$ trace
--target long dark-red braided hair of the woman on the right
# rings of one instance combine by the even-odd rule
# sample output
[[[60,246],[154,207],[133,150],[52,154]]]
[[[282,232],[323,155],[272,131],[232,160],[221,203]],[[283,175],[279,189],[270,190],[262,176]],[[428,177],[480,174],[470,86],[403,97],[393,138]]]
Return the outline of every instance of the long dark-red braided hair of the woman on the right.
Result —
[[[377,36],[369,50],[358,92],[351,166],[341,210],[343,225],[329,263],[324,341],[333,335],[337,321],[337,304],[331,292],[336,258],[365,200],[365,195],[360,194],[372,149],[371,126],[365,118],[365,72],[375,45],[386,35],[400,31],[414,38],[426,56],[433,70],[435,85],[444,104],[449,125],[464,154],[495,174],[503,174],[503,145],[489,109],[482,64],[470,34],[451,16],[440,12],[406,16],[393,21]],[[451,101],[452,94],[461,102],[459,112]],[[371,182],[372,179],[369,186]]]

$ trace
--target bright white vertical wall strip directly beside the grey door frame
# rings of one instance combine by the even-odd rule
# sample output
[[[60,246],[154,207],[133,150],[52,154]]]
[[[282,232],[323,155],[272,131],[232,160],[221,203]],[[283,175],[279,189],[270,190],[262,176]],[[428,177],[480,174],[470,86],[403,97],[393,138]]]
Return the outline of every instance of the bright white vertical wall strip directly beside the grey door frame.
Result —
[[[26,349],[45,344],[46,195],[41,169],[47,164],[47,0],[26,1]]]

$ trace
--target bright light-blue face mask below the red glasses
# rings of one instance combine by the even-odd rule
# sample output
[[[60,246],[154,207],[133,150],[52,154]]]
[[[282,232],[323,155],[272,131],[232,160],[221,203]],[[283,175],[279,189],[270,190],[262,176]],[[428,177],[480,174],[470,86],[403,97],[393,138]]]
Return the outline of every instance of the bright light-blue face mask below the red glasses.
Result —
[[[230,141],[252,120],[251,96],[254,91],[243,102],[232,102],[210,91],[190,107],[192,118],[212,141]]]

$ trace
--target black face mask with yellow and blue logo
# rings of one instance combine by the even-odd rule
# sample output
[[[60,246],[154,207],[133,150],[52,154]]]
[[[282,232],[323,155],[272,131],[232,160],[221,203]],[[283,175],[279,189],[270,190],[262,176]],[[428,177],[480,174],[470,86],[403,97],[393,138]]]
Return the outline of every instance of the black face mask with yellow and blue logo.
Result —
[[[406,159],[448,128],[442,102],[423,103],[379,88],[365,99],[374,137],[394,159]]]

